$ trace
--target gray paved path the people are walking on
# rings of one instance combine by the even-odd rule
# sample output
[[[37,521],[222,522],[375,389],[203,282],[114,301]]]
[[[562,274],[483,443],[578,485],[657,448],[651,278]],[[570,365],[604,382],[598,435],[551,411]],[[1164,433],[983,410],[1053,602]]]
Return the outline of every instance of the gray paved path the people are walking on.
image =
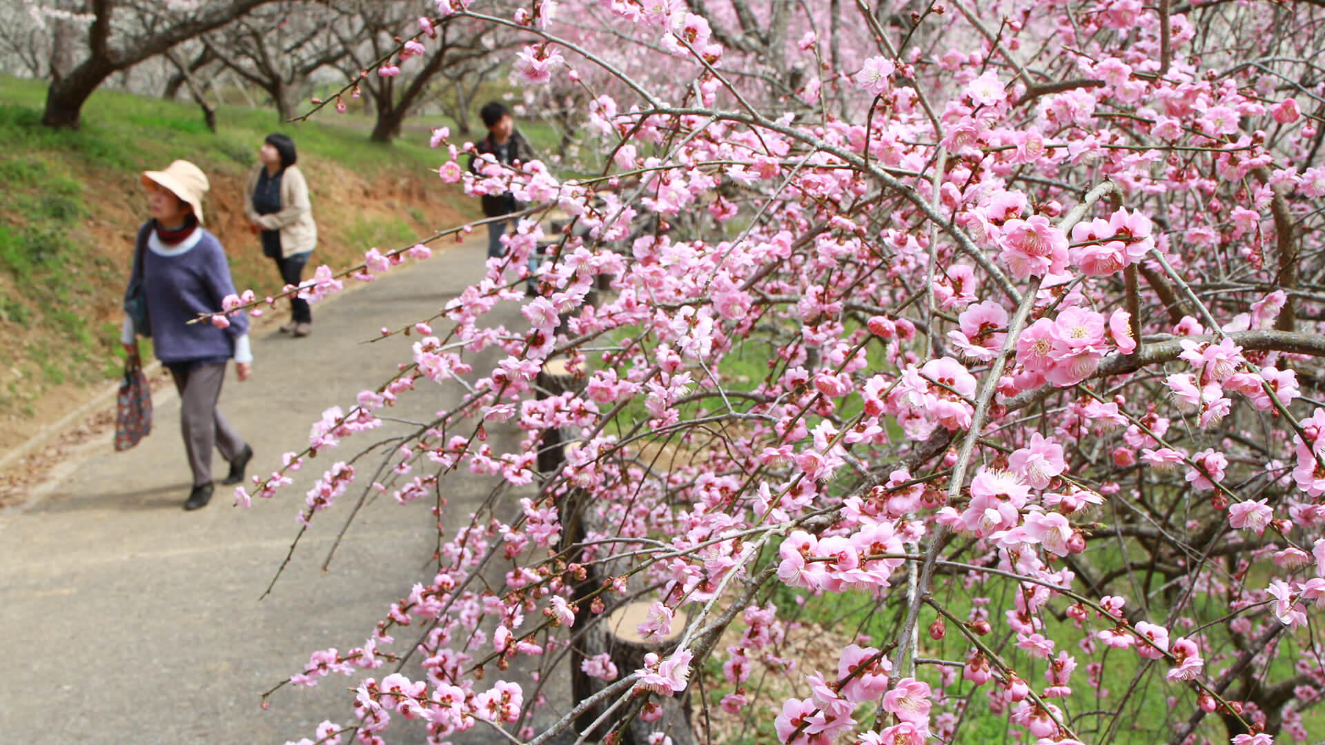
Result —
[[[323,408],[352,404],[409,359],[413,338],[360,342],[436,313],[481,276],[482,255],[482,241],[453,244],[314,305],[309,339],[274,325],[257,333],[253,378],[241,384],[232,371],[221,395],[257,452],[250,472],[270,472],[281,452],[307,443]],[[494,319],[521,323],[514,304]],[[454,387],[429,386],[394,414],[423,419],[454,400]],[[187,513],[178,416],[174,392],[159,395],[158,428],[138,448],[115,453],[101,437],[48,496],[0,514],[0,741],[281,744],[311,736],[323,718],[350,721],[341,676],[285,688],[269,711],[258,695],[302,669],[313,650],[362,644],[408,594],[435,544],[429,505],[370,505],[322,574],[347,514],[342,500],[318,516],[274,593],[258,602],[294,537],[303,490],[330,459],[310,461],[295,485],[252,510],[231,506],[231,489],[219,485],[211,505]],[[465,520],[490,487],[468,473],[448,480],[448,522]]]

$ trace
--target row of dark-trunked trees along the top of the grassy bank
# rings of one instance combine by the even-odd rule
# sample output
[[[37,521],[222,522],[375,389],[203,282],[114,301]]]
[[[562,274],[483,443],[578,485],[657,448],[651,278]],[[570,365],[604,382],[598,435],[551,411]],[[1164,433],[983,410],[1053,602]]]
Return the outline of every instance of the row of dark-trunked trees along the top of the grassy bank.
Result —
[[[517,40],[492,25],[444,24],[421,56],[396,60],[399,76],[378,76],[417,13],[409,0],[0,0],[0,61],[50,81],[50,127],[77,129],[93,91],[151,65],[162,94],[187,93],[213,129],[208,87],[228,74],[265,93],[282,121],[299,115],[319,81],[358,80],[374,141],[391,142],[424,106],[469,131],[470,102],[501,65],[496,52]]]

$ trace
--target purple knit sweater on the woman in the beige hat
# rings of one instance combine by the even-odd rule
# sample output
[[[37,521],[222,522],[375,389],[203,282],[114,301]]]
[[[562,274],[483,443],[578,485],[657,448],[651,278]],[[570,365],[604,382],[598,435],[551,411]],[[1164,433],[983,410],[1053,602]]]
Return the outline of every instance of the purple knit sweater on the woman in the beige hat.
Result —
[[[221,298],[235,294],[221,241],[201,227],[176,245],[163,244],[152,232],[151,223],[139,229],[139,237],[144,231],[147,249],[143,251],[143,286],[147,289],[147,317],[152,325],[156,358],[167,365],[231,357],[236,357],[236,362],[248,362],[240,359],[249,357],[248,315],[231,315],[227,329],[205,322],[188,323],[199,313],[220,312]],[[135,256],[134,272],[136,270]],[[130,339],[131,323],[126,321]],[[237,349],[236,342],[241,339],[238,347],[242,349]]]

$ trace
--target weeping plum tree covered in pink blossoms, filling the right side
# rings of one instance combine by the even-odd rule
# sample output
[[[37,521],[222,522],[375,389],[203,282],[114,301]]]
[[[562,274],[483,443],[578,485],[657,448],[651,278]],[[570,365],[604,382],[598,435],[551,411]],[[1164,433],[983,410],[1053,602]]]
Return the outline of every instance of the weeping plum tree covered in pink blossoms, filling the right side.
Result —
[[[481,9],[440,0],[399,33],[522,34],[514,76],[584,91],[600,171],[472,174],[436,131],[444,180],[510,190],[527,219],[481,282],[401,319],[423,337],[398,375],[237,490],[280,497],[290,468],[334,461],[305,526],[351,489],[449,526],[362,646],[289,679],[354,689],[302,742],[659,744],[689,693],[701,732],[746,717],[787,745],[966,742],[990,718],[1039,744],[1321,732],[1325,9]],[[527,297],[554,207],[572,223]],[[523,321],[496,323],[502,304]],[[435,386],[462,403],[379,468],[351,457]],[[452,516],[462,472],[494,498]],[[641,636],[684,630],[633,667],[595,654],[641,602]],[[859,608],[827,663],[787,640],[823,607]],[[546,711],[572,665],[588,693]]]

